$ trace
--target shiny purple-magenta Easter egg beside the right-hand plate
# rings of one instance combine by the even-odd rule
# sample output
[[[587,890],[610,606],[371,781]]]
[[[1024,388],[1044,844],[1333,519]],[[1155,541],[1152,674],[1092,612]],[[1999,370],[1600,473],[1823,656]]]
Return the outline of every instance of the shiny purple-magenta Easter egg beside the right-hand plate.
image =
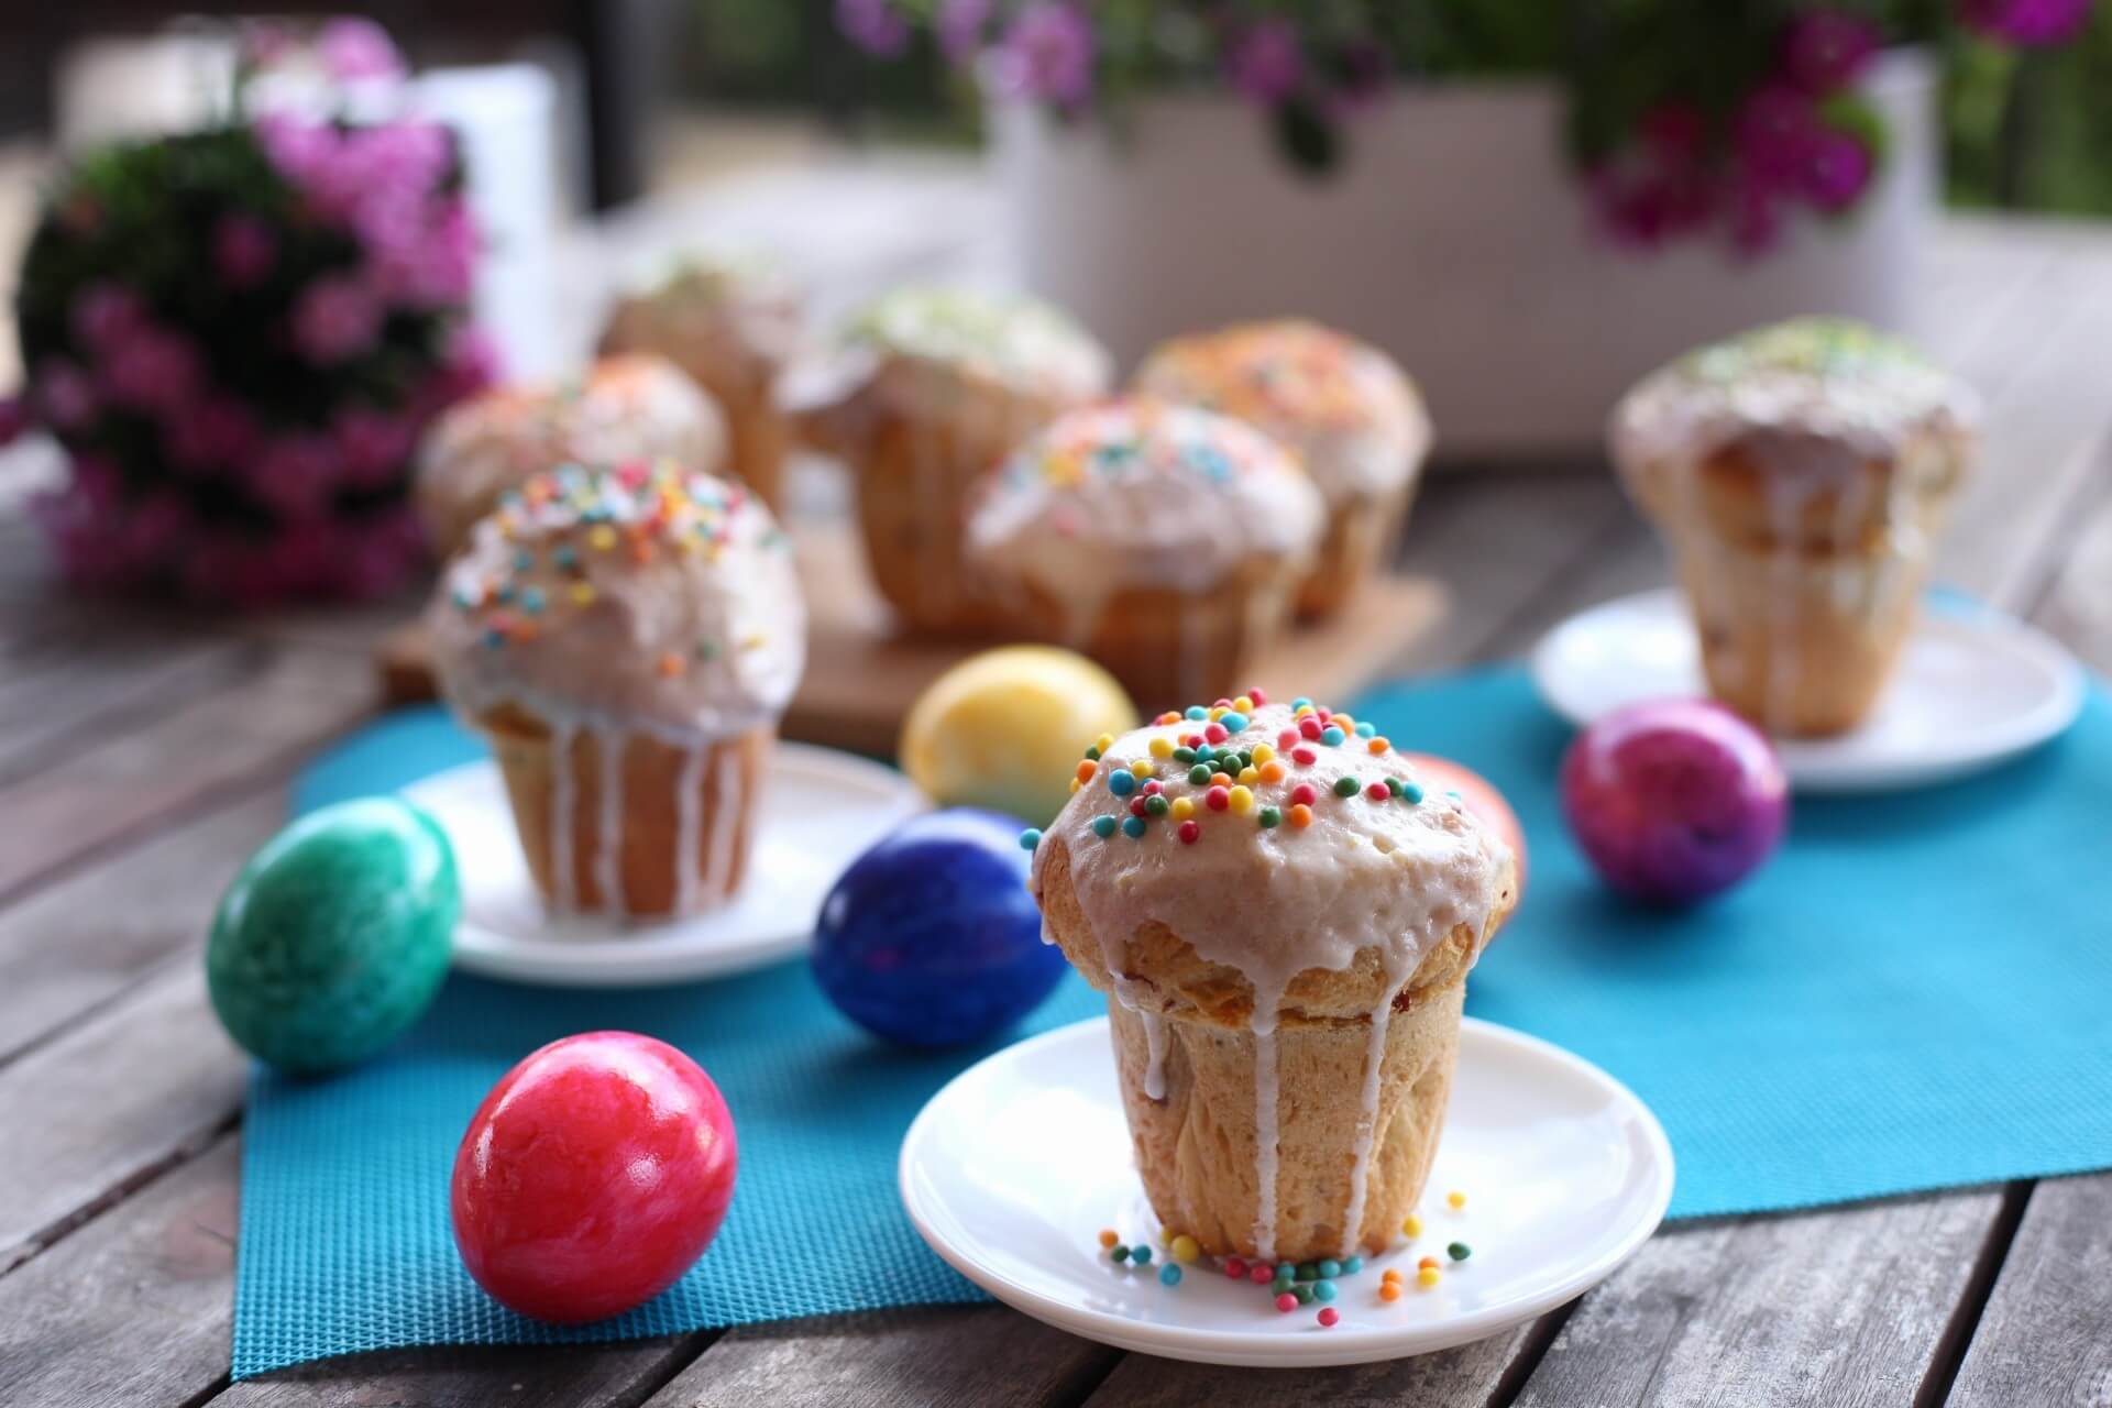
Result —
[[[1783,840],[1789,779],[1768,739],[1723,705],[1664,699],[1605,716],[1569,745],[1563,817],[1607,884],[1694,903]]]

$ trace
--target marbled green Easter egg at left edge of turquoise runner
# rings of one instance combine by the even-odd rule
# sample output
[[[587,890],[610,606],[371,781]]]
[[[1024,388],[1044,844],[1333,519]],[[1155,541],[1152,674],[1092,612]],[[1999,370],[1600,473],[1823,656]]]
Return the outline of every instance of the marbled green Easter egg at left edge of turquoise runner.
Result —
[[[425,1015],[463,912],[454,851],[399,798],[313,811],[249,857],[213,914],[213,1011],[251,1055],[313,1074]]]

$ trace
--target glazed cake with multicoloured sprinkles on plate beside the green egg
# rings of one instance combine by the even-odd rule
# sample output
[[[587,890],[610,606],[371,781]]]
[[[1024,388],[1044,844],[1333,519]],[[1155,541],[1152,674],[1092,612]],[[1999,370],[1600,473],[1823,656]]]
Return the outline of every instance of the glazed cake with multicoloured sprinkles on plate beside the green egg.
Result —
[[[792,549],[754,494],[672,462],[536,475],[477,526],[427,619],[553,910],[733,895],[805,663]]]

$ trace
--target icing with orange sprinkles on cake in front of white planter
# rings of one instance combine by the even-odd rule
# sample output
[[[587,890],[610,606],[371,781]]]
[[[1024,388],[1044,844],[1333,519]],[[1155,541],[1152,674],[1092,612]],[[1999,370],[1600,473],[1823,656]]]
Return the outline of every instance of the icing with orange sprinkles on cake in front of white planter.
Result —
[[[1328,505],[1409,483],[1430,416],[1392,357],[1316,323],[1246,323],[1162,344],[1134,388],[1236,416],[1297,452]]]

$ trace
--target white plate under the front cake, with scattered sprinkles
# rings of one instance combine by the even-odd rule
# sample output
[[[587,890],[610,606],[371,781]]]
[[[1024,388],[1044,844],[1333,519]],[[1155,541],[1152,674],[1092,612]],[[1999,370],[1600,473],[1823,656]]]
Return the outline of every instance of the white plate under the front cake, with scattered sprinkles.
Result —
[[[1178,1286],[1115,1267],[1096,1241],[1155,1237],[1130,1157],[1107,1020],[1007,1047],[936,1093],[902,1140],[902,1203],[925,1241],[999,1300],[1102,1345],[1170,1359],[1301,1368],[1449,1349],[1516,1326],[1603,1281],[1656,1231],[1673,1150],[1624,1085],[1502,1026],[1459,1030],[1459,1068],[1423,1235],[1337,1281],[1341,1324],[1318,1305],[1280,1313],[1267,1288],[1208,1262]],[[1468,1195],[1451,1210],[1447,1191]],[[1464,1241],[1472,1256],[1445,1260]],[[1415,1286],[1421,1256],[1445,1260]],[[1379,1300],[1400,1267],[1407,1294]]]

